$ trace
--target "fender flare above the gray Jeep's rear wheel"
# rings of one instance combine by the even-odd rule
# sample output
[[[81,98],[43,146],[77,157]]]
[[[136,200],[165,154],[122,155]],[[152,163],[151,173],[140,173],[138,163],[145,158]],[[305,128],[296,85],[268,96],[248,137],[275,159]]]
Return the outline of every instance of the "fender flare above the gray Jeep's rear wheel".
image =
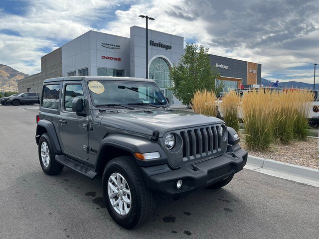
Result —
[[[54,128],[54,124],[46,119],[41,119],[38,121],[37,125],[36,125],[36,136],[35,136],[35,140],[36,140],[36,144],[39,143],[39,139],[41,137],[40,132],[41,132],[41,127],[45,128],[47,134],[49,135],[51,142],[52,142],[52,147],[53,147],[53,151],[56,154],[62,153],[61,150],[61,146],[58,140],[58,137],[56,135],[56,131]]]

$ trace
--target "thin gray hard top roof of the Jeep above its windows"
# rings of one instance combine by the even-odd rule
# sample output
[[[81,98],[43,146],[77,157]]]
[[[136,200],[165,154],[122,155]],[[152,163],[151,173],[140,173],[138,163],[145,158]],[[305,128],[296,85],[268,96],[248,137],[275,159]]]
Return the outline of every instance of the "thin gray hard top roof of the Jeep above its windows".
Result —
[[[135,77],[115,77],[115,76],[68,76],[57,77],[44,80],[43,83],[56,82],[56,81],[82,81],[82,80],[107,80],[107,81],[144,81],[154,82],[150,79],[135,78]]]

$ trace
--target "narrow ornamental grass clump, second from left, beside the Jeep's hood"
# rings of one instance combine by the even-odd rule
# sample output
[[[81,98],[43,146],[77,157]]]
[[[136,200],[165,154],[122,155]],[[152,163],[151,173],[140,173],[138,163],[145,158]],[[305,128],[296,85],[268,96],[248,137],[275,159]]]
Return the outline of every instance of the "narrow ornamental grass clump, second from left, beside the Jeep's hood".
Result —
[[[239,103],[240,97],[234,91],[231,91],[228,94],[224,93],[223,101],[220,103],[226,125],[234,128],[236,131],[239,130]]]

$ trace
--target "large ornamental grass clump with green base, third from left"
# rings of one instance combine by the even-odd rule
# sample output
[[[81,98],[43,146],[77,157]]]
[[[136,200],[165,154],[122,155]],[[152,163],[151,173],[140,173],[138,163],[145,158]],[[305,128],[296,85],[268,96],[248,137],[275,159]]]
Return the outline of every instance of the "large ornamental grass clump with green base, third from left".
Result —
[[[273,141],[272,97],[270,91],[251,91],[242,99],[245,140],[250,150],[266,150]]]

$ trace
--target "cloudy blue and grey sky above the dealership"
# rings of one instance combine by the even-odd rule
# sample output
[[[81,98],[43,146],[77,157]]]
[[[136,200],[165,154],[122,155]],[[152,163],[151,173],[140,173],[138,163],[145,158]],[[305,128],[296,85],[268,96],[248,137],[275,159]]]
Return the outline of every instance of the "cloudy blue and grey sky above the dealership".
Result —
[[[261,63],[268,80],[313,83],[318,0],[0,0],[0,64],[40,72],[41,56],[88,30],[129,37],[140,14],[211,54]]]

